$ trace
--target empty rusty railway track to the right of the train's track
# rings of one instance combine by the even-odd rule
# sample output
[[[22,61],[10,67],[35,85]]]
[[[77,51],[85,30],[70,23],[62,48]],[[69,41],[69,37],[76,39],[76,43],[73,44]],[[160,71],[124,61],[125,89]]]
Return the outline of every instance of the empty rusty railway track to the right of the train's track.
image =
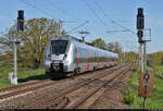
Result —
[[[127,70],[126,70],[127,69]],[[91,92],[87,94],[84,98],[82,98],[80,100],[78,100],[77,102],[75,102],[75,104],[71,104],[66,108],[71,108],[74,109],[77,106],[79,106],[82,102],[84,102],[87,98],[89,98],[91,95],[93,95],[96,91],[98,91],[100,88],[102,88],[105,84],[109,84],[110,82],[112,82],[114,78],[116,78],[117,76],[120,76],[121,74],[125,73],[126,71],[128,71],[130,69],[130,66],[127,65],[123,65],[123,67],[118,67],[117,70],[121,70],[121,72],[118,72],[118,74],[116,74],[115,76],[113,76],[112,78],[110,78],[109,81],[104,82],[102,85],[100,85],[99,87],[97,87],[95,90],[92,90]],[[96,76],[93,78],[89,78],[84,83],[77,84],[74,87],[67,88],[65,90],[62,90],[61,92],[57,94],[57,95],[51,95],[48,97],[43,97],[30,104],[25,106],[25,109],[43,109],[43,108],[50,108],[50,106],[53,106],[53,102],[59,99],[59,98],[63,98],[65,95],[71,94],[86,85],[89,85],[93,82],[96,82],[97,79],[103,78],[105,76],[108,76],[109,74],[112,74],[114,72],[114,70],[110,71],[110,72],[105,72],[103,74],[99,74],[99,76]],[[61,102],[55,107],[55,108],[64,108],[67,103],[70,102],[70,100],[64,99],[61,100]],[[57,103],[55,103],[57,104]]]

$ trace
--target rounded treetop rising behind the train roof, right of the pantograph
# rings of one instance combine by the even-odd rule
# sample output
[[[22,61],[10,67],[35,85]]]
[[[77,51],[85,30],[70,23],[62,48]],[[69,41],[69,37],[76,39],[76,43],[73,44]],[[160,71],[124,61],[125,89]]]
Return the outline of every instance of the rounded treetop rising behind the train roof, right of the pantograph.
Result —
[[[91,44],[99,48],[106,49],[106,45],[105,45],[104,40],[101,38],[97,38],[97,39],[92,40]]]

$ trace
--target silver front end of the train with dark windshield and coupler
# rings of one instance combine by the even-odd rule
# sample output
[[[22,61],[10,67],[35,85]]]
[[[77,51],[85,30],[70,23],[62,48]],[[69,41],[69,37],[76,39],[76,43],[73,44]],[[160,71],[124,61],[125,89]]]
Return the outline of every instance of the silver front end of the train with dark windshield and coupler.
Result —
[[[46,74],[53,78],[62,78],[70,72],[70,40],[65,37],[55,37],[49,40],[46,48],[45,69]]]

